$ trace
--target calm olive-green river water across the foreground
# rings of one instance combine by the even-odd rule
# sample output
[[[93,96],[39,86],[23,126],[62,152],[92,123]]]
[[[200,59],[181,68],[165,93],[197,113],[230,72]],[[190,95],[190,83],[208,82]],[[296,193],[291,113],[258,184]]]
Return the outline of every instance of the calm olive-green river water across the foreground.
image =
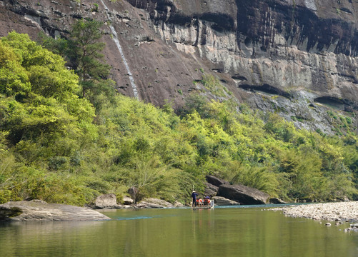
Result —
[[[259,208],[103,212],[112,221],[0,223],[0,256],[358,256],[358,233]]]

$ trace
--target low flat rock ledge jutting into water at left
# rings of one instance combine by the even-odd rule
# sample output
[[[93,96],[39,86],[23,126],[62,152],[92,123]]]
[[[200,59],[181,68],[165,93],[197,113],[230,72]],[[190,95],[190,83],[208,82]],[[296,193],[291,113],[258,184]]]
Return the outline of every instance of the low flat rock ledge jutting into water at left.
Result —
[[[10,201],[0,205],[0,221],[107,221],[98,211],[40,200]]]

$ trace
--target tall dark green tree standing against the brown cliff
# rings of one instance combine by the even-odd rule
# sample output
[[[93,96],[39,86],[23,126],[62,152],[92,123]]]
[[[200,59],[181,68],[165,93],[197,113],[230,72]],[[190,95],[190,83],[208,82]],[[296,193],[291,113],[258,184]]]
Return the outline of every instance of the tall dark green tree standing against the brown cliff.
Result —
[[[46,49],[61,54],[78,74],[81,97],[89,99],[96,108],[96,114],[100,113],[106,101],[113,102],[115,95],[115,83],[108,79],[111,67],[105,64],[101,54],[105,46],[101,42],[102,25],[100,21],[82,19],[73,24],[69,40],[52,39],[44,34],[39,36]]]

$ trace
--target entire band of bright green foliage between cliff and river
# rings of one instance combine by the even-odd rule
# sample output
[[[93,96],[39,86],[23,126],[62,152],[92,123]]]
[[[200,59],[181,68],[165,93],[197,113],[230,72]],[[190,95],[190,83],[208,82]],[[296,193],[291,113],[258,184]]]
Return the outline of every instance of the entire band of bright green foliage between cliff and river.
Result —
[[[352,134],[297,130],[275,114],[195,94],[180,115],[126,96],[95,109],[79,83],[64,59],[27,35],[1,39],[0,203],[83,205],[131,186],[138,199],[185,202],[207,174],[292,201],[357,193]]]

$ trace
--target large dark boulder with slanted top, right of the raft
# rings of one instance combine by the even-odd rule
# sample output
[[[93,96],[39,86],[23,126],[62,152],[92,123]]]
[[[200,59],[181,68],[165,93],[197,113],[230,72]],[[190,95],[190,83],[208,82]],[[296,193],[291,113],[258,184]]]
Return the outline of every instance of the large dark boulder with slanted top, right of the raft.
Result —
[[[242,204],[265,204],[269,201],[267,193],[244,185],[222,184],[219,186],[217,196],[223,196]]]

